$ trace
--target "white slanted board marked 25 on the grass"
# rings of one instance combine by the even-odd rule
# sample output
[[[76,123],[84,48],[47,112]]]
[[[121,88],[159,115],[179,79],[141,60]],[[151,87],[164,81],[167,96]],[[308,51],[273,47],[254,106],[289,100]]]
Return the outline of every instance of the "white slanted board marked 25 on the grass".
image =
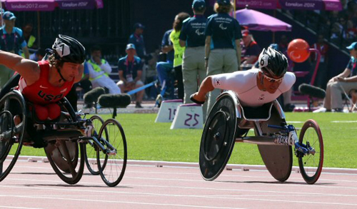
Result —
[[[196,103],[178,106],[170,129],[176,128],[203,128],[202,106]]]

